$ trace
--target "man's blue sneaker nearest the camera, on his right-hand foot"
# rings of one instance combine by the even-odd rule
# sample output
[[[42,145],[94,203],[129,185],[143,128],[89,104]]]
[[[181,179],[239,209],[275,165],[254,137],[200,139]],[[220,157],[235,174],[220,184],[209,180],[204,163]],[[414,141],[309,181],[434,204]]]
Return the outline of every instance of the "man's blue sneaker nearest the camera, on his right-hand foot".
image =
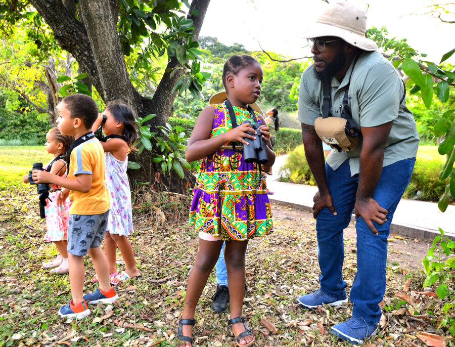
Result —
[[[362,318],[349,318],[346,322],[336,324],[330,328],[330,332],[333,335],[352,344],[362,344],[364,339],[376,335],[377,331],[377,324],[369,325]]]

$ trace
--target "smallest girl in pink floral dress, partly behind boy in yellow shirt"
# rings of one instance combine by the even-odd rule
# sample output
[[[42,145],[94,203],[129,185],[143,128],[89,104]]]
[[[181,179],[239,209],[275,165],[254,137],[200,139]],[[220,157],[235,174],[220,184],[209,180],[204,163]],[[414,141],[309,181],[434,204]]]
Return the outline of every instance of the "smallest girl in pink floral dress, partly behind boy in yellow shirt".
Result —
[[[74,137],[62,135],[58,127],[52,128],[46,134],[46,143],[44,144],[47,152],[53,154],[52,160],[43,167],[44,170],[51,174],[66,177],[66,152],[68,152]],[[24,183],[28,182],[28,175],[22,178]],[[50,185],[49,197],[46,200],[44,212],[46,214],[47,233],[44,235],[44,241],[54,242],[59,254],[52,262],[43,263],[43,269],[52,269],[51,272],[59,275],[68,273],[68,221],[71,201],[67,198],[63,205],[57,204],[57,193],[59,187]]]

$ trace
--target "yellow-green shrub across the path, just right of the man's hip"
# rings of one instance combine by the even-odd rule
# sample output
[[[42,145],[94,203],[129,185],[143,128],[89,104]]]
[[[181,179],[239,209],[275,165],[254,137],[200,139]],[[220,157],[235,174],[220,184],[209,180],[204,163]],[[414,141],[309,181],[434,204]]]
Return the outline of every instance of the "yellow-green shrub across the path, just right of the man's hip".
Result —
[[[438,201],[444,194],[444,188],[447,184],[438,178],[441,168],[440,158],[426,158],[425,160],[417,158],[411,182],[403,197],[413,199],[417,196],[422,201]]]

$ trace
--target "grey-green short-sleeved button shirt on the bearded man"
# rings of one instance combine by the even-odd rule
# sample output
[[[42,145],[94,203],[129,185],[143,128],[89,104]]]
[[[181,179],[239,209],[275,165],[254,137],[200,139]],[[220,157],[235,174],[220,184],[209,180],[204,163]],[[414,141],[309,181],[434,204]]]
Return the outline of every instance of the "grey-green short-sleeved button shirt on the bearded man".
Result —
[[[346,85],[351,75],[354,60],[351,62],[341,83],[332,78],[332,107],[334,117],[341,116],[341,106]],[[393,65],[378,52],[363,51],[355,63],[349,85],[348,104],[355,127],[372,127],[393,121],[390,135],[384,150],[382,166],[399,160],[414,158],[419,145],[416,121],[406,108],[406,100],[400,103],[405,93],[403,82]],[[314,125],[314,120],[322,116],[323,85],[314,77],[314,65],[308,67],[300,79],[298,120]],[[336,170],[347,158],[351,175],[359,172],[359,146],[353,151],[332,150],[327,163]]]

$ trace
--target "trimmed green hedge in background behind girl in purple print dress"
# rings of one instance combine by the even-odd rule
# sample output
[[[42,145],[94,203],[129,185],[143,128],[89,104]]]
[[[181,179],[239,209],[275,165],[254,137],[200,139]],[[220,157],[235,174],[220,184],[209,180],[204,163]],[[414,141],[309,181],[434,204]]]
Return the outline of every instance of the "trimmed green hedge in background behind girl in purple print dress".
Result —
[[[195,121],[193,119],[169,117],[169,124],[180,125],[185,128],[185,133],[190,137]],[[302,132],[297,129],[280,128],[276,132],[277,141],[275,143],[275,154],[281,155],[291,152],[294,148],[302,143]]]

